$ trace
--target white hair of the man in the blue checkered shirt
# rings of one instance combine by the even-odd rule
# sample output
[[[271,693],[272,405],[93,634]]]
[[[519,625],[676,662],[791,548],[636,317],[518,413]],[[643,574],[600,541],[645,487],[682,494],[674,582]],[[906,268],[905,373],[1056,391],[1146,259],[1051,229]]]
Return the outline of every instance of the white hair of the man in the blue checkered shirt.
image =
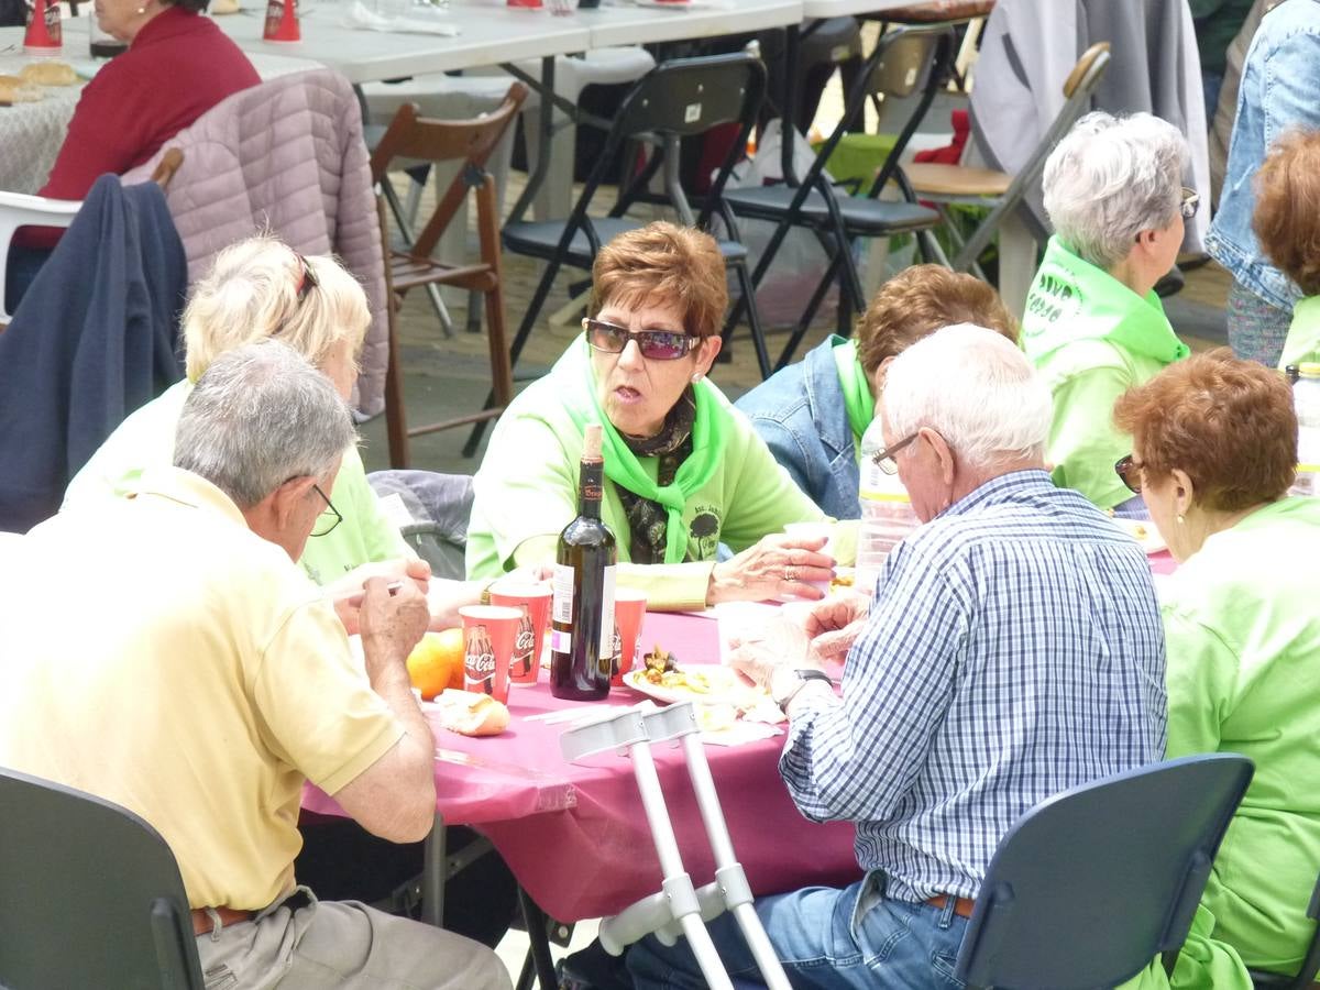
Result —
[[[880,399],[892,442],[929,426],[973,469],[1044,455],[1049,389],[1020,350],[983,326],[958,323],[917,341],[894,359]]]

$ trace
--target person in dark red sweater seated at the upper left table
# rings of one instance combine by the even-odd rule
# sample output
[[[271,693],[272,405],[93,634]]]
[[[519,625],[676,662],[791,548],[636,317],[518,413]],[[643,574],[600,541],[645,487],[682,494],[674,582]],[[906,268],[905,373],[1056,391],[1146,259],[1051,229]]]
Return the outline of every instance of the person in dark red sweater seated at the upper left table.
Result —
[[[107,172],[123,174],[216,103],[261,82],[210,17],[207,0],[96,0],[96,21],[128,50],[104,65],[78,99],[69,135],[40,195],[82,199]],[[25,227],[7,277],[13,313],[63,231]]]

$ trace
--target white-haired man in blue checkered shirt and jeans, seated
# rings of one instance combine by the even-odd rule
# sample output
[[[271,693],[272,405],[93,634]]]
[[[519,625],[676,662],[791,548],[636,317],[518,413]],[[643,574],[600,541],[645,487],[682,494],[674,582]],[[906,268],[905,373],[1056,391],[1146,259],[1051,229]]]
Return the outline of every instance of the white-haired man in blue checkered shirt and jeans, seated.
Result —
[[[879,413],[880,466],[925,525],[890,554],[869,615],[832,601],[808,622],[808,635],[861,627],[842,698],[801,634],[735,656],[789,715],[780,774],[797,807],[857,822],[866,871],[758,899],[795,987],[961,986],[958,945],[1001,837],[1051,795],[1164,751],[1146,554],[1051,483],[1049,391],[1022,352],[981,327],[941,330],[894,360]],[[755,979],[727,915],[711,935],[730,974]],[[705,986],[684,941],[647,939],[628,969],[639,987]]]

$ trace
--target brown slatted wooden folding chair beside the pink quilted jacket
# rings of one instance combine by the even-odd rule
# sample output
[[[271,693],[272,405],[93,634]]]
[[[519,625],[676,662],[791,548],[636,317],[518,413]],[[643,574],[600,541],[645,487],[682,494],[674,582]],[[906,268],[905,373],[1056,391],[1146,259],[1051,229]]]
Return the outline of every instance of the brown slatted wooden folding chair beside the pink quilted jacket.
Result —
[[[371,156],[371,178],[378,190],[381,189],[381,183],[389,181],[387,173],[395,158],[409,158],[416,162],[462,162],[454,181],[436,205],[430,220],[417,234],[412,247],[407,251],[395,251],[389,247],[384,197],[378,194],[389,309],[385,428],[389,437],[389,463],[393,467],[408,466],[409,437],[495,418],[513,397],[513,376],[504,339],[499,210],[495,198],[495,180],[486,172],[486,161],[513,123],[525,96],[527,87],[521,83],[513,83],[499,110],[475,120],[432,120],[420,116],[414,104],[405,103],[395,114],[395,119]],[[473,193],[475,193],[477,201],[480,260],[446,264],[433,259],[432,252],[440,243],[441,235],[453,222],[459,206]],[[404,413],[403,376],[399,370],[399,306],[404,294],[420,285],[454,285],[469,292],[479,292],[484,297],[486,334],[495,404],[491,408],[440,422],[409,428]]]

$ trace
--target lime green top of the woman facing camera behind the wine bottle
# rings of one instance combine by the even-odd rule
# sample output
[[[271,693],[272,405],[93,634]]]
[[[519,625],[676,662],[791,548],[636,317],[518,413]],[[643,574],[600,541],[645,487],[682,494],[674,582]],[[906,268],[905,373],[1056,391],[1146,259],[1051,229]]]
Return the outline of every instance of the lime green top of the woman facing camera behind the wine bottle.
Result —
[[[582,429],[562,396],[585,384],[569,371],[561,362],[528,385],[491,434],[473,479],[469,578],[498,577],[515,566],[515,554],[516,564],[553,560],[560,531],[577,516]],[[618,579],[645,591],[652,610],[704,607],[721,543],[738,552],[767,533],[780,532],[785,523],[826,519],[723,393],[709,381],[700,387],[710,389],[717,414],[725,421],[725,450],[711,477],[682,507],[686,562],[623,566],[631,560],[628,520],[618,487],[605,480],[601,517],[618,541]],[[645,457],[639,462],[653,480],[659,459]]]

